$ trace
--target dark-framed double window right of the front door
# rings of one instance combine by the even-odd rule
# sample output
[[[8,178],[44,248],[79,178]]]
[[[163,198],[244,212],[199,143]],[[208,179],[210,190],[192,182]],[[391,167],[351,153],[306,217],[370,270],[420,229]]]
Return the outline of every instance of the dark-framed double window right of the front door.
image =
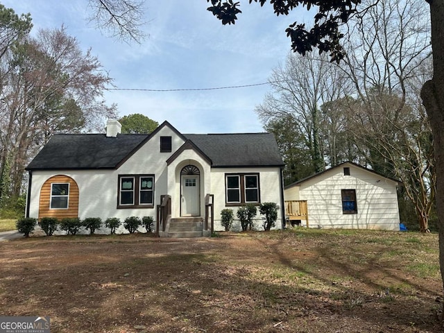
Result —
[[[259,203],[259,173],[225,174],[225,202],[228,205]]]

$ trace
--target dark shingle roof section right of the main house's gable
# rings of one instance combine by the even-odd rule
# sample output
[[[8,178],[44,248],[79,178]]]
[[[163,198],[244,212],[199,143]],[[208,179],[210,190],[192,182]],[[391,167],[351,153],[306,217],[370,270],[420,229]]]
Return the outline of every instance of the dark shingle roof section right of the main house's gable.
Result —
[[[271,133],[185,134],[213,167],[282,166],[278,144]]]

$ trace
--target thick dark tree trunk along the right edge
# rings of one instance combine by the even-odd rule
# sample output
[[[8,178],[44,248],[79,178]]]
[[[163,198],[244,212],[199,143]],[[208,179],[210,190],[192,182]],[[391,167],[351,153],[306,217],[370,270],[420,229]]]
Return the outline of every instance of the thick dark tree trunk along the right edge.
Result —
[[[429,116],[434,139],[439,264],[444,287],[444,0],[427,0],[427,2],[430,5],[432,22],[434,76],[422,87],[421,97]]]

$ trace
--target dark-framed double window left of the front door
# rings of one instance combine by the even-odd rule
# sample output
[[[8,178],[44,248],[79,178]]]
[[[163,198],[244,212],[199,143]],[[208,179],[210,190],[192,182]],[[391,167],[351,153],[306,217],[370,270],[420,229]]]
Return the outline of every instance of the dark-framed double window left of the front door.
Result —
[[[117,207],[153,207],[154,176],[119,176],[119,199]]]

